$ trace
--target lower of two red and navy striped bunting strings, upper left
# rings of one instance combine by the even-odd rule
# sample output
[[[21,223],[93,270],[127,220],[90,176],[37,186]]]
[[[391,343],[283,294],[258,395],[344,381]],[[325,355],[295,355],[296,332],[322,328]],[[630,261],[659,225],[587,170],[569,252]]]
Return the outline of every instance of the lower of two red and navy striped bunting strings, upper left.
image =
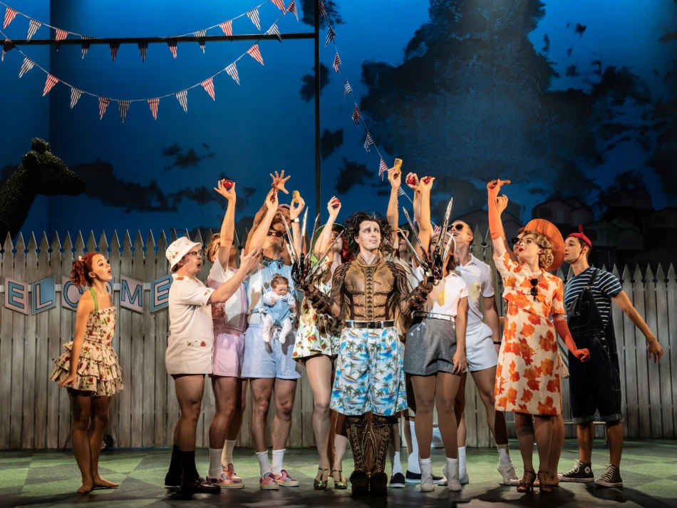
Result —
[[[281,6],[284,6],[284,0],[271,0],[274,4],[281,4]],[[266,34],[277,34],[279,36],[279,29],[277,28],[277,22],[279,19],[284,16],[287,12],[291,12],[292,14],[296,14],[296,19],[298,20],[298,14],[296,10],[296,0],[291,0],[291,3],[284,8],[284,11],[282,11],[282,14],[280,14],[277,19],[274,21],[272,26],[266,31]],[[10,20],[11,21],[11,20]],[[239,85],[239,71],[237,69],[237,62],[242,59],[244,55],[249,55],[252,57],[252,59],[256,60],[259,62],[259,64],[263,65],[263,56],[261,54],[261,49],[259,48],[259,41],[261,39],[258,39],[247,51],[245,51],[243,54],[237,57],[231,64],[226,66],[225,68],[222,68],[220,71],[215,73],[214,75],[210,76],[209,78],[200,81],[199,83],[195,83],[192,86],[189,86],[188,88],[185,88],[181,91],[177,91],[175,93],[167,93],[166,95],[163,96],[157,96],[153,98],[137,98],[137,99],[118,99],[118,98],[110,98],[110,97],[102,97],[97,95],[96,93],[91,93],[85,90],[81,90],[80,88],[77,88],[76,86],[71,85],[70,83],[66,83],[66,81],[63,81],[56,76],[53,76],[49,71],[46,71],[46,69],[42,68],[38,64],[36,64],[35,61],[31,60],[29,56],[24,54],[21,49],[17,48],[14,43],[7,38],[7,36],[4,34],[3,31],[0,30],[0,35],[4,37],[4,44],[3,44],[3,49],[2,49],[2,56],[1,56],[1,61],[4,61],[4,56],[7,51],[11,51],[12,49],[15,49],[18,51],[22,56],[24,56],[24,61],[21,64],[21,70],[19,71],[19,78],[24,76],[27,72],[29,72],[32,68],[38,68],[43,73],[46,73],[47,78],[45,82],[45,87],[43,88],[43,97],[51,91],[51,89],[56,85],[56,83],[62,83],[69,88],[71,88],[71,109],[73,109],[78,101],[80,100],[81,96],[83,95],[88,95],[92,96],[98,99],[98,110],[99,110],[99,118],[103,118],[103,114],[106,111],[106,108],[108,108],[108,105],[110,104],[111,101],[117,102],[118,103],[118,110],[120,111],[120,118],[125,122],[125,116],[127,116],[127,112],[130,106],[130,103],[133,102],[147,102],[148,106],[150,108],[150,112],[153,114],[153,118],[157,120],[157,108],[160,105],[160,99],[162,98],[167,98],[171,96],[175,96],[177,98],[177,101],[179,101],[181,107],[183,108],[183,111],[188,111],[188,91],[192,90],[192,88],[197,88],[198,86],[202,86],[202,88],[205,89],[205,91],[209,94],[209,96],[213,99],[216,100],[215,96],[215,88],[214,88],[214,78],[216,76],[219,76],[221,73],[227,73],[228,76],[230,76],[233,81],[235,81]],[[280,39],[281,40],[281,39]]]

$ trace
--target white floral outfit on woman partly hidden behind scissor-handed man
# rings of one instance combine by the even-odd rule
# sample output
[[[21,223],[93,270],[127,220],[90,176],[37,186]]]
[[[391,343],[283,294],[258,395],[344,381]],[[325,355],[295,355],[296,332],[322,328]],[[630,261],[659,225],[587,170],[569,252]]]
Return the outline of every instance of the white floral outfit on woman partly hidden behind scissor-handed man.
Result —
[[[323,282],[328,271],[329,263],[326,263],[325,267],[319,270],[318,279],[320,282],[316,286],[325,295],[331,293],[331,278],[328,282]],[[338,355],[340,336],[341,323],[334,317],[316,313],[309,300],[304,298],[299,312],[299,330],[296,332],[296,344],[291,357],[294,360],[303,360],[315,355]]]

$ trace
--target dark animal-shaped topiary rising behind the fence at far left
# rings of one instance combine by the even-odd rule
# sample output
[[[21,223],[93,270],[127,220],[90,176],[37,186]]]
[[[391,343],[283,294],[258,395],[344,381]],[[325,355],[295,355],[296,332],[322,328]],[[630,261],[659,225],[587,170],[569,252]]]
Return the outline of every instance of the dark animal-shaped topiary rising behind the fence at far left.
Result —
[[[85,188],[82,179],[52,153],[49,143],[34,138],[31,151],[0,191],[0,238],[19,233],[36,195],[78,195]]]

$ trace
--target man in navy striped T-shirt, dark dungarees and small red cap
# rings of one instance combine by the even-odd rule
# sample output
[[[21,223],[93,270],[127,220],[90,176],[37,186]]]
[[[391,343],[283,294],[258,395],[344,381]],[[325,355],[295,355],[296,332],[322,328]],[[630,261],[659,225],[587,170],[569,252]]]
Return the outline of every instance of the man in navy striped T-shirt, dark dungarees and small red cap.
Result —
[[[572,420],[577,424],[579,459],[573,469],[559,475],[559,479],[562,482],[594,481],[591,464],[593,422],[595,412],[599,411],[599,420],[606,422],[611,457],[606,472],[595,484],[599,487],[622,487],[619,470],[623,449],[621,379],[611,300],[644,334],[648,357],[653,357],[653,362],[661,360],[663,348],[633,307],[619,279],[588,264],[591,250],[592,243],[583,234],[582,226],[579,233],[572,233],[565,240],[564,261],[571,265],[574,277],[567,281],[564,288],[564,305],[574,340],[577,346],[589,348],[590,361],[583,364],[569,355],[569,397]]]

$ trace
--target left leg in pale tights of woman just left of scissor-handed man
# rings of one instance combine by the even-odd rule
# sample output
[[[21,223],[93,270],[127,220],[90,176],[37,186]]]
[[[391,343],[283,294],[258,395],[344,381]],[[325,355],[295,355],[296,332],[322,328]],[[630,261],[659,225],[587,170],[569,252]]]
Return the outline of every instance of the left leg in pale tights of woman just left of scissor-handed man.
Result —
[[[331,427],[331,415],[329,402],[331,402],[331,359],[326,355],[317,355],[306,360],[306,372],[308,382],[313,392],[313,430],[315,443],[320,457],[316,479],[324,480],[329,476],[329,429]]]

